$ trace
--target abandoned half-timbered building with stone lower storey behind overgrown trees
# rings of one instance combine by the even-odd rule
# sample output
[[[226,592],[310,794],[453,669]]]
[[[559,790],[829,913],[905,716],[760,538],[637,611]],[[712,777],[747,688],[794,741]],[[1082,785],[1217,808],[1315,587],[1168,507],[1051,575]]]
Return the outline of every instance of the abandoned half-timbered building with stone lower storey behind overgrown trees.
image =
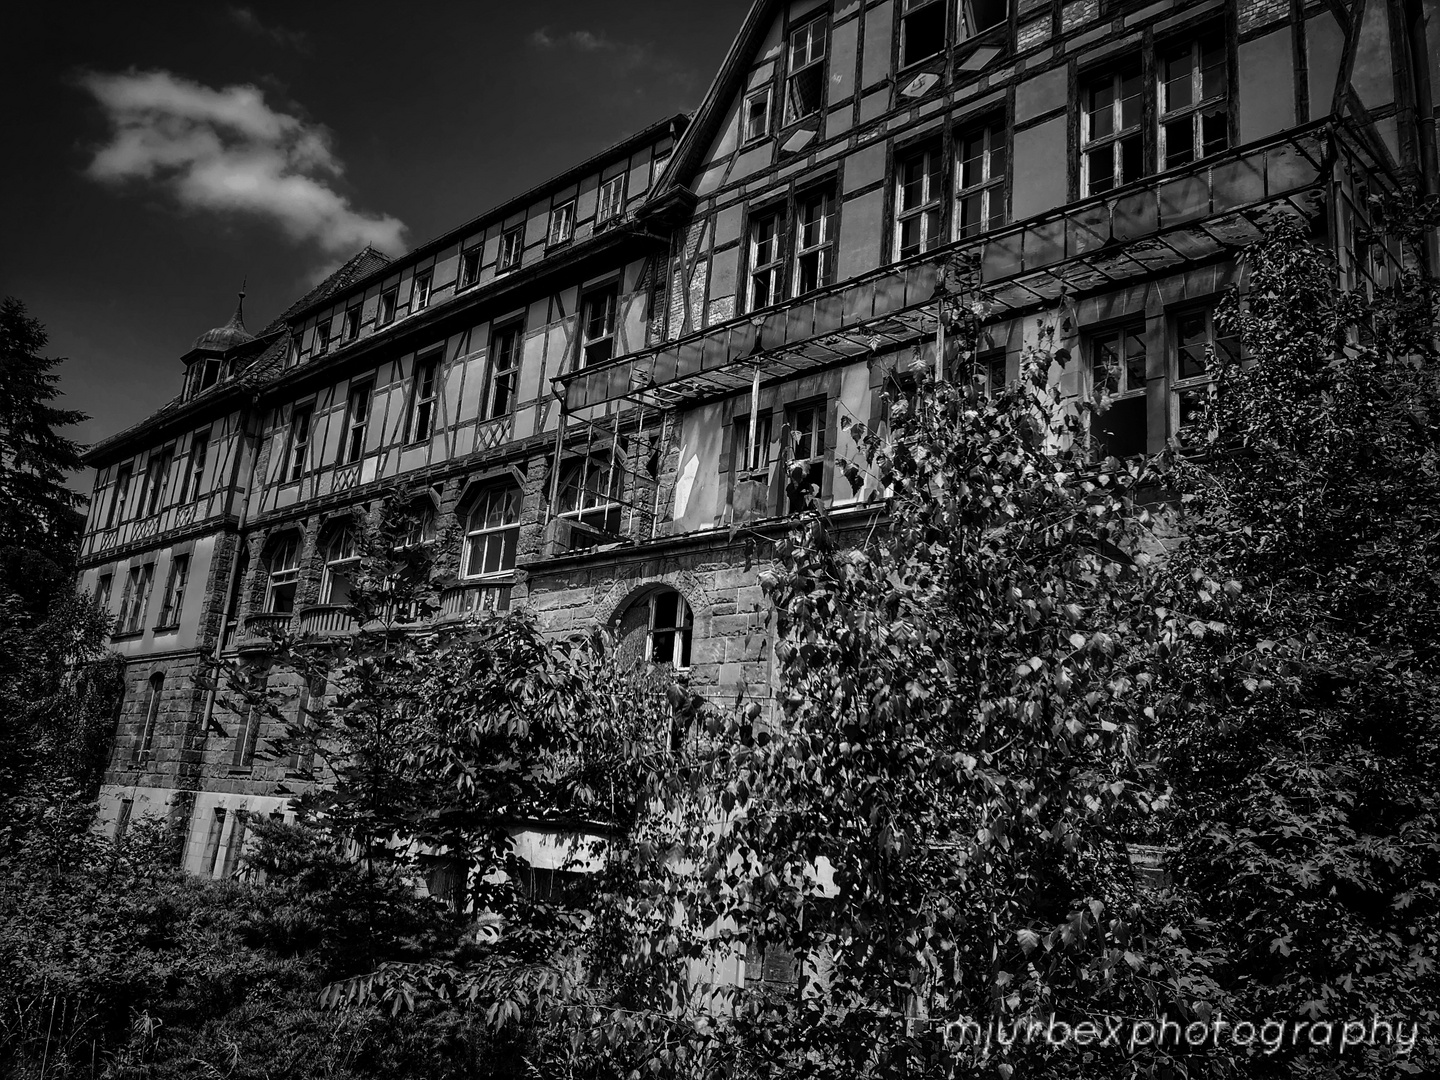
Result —
[[[1015,379],[1054,320],[1080,357],[1057,377],[1115,399],[1093,436],[1156,451],[1267,216],[1310,216],[1348,285],[1395,272],[1372,196],[1434,190],[1437,37],[1440,0],[756,0],[693,114],[360,252],[258,330],[238,307],[89,451],[81,588],[127,661],[104,827],[170,814],[187,868],[233,868],[294,763],[197,672],[350,632],[356,518],[396,495],[446,546],[436,618],[600,624],[763,696],[733,526],[785,530],[795,464],[838,517],[877,513],[838,477],[844,420],[936,363],[956,256],[986,304],[959,374]]]

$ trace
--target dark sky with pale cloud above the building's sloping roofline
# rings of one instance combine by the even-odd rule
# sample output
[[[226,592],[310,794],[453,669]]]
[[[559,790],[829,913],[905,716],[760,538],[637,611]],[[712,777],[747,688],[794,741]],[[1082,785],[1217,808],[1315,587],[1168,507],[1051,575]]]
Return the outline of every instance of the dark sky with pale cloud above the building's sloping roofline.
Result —
[[[0,295],[82,444],[157,409],[372,243],[423,243],[700,104],[749,0],[13,6]],[[86,477],[75,487],[89,490]]]

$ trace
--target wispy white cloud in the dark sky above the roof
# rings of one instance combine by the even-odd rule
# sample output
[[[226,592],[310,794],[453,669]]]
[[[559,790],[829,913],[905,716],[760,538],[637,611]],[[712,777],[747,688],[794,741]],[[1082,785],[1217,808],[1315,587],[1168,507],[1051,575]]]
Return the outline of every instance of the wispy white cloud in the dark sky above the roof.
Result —
[[[354,209],[336,190],[344,166],[330,132],[265,102],[256,86],[212,89],[164,71],[79,79],[109,121],[86,173],[101,183],[151,183],[189,210],[278,225],[327,255],[364,245],[405,251],[406,226]]]

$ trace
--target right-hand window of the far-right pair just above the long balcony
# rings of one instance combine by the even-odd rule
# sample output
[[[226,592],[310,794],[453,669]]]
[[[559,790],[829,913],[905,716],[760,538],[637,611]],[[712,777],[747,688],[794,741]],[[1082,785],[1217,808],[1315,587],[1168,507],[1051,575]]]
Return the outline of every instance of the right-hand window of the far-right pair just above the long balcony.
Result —
[[[1230,145],[1225,40],[1218,33],[1166,50],[1161,76],[1161,168],[1189,164]]]

